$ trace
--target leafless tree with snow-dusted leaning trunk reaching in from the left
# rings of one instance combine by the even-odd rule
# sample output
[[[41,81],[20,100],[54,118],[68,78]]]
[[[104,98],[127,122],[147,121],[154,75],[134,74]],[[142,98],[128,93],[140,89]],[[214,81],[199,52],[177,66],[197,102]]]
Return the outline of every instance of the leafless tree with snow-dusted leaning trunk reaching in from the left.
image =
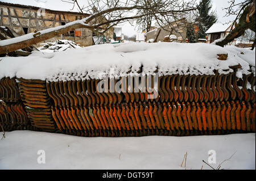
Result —
[[[130,22],[148,15],[163,27],[196,10],[196,0],[146,0],[148,3],[141,0],[88,0],[87,5],[80,5],[77,0],[63,1],[73,5],[72,8],[77,7],[85,18],[48,31],[32,33],[32,37],[26,35],[28,38],[24,40],[21,38],[11,42],[3,40],[5,43],[0,43],[0,54],[28,47],[77,28],[89,28],[92,31],[105,33],[118,23]],[[158,3],[159,1],[161,3]]]

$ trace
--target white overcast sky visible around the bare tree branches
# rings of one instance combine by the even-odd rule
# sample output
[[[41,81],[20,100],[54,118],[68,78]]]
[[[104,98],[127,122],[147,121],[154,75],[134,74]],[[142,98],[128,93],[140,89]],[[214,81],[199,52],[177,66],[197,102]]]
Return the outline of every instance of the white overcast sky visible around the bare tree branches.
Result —
[[[69,3],[62,2],[61,0],[0,0],[1,2],[8,2],[8,3],[15,3],[20,5],[28,5],[28,6],[37,6],[37,7],[44,7],[46,9],[52,10],[60,10],[60,11],[70,11],[72,5]],[[199,2],[200,0],[197,0]],[[222,9],[224,7],[228,7],[230,0],[212,0],[213,8],[212,10],[216,11],[218,16],[218,22],[226,23],[235,19],[234,16],[224,17],[225,11]],[[236,3],[241,2],[244,0],[236,0]],[[46,3],[43,3],[46,2]],[[86,2],[86,0],[79,0],[78,1],[81,5],[82,3]],[[75,8],[73,11],[77,11]],[[131,26],[130,23],[123,23],[119,26],[122,26],[122,33],[128,36],[132,36],[137,34],[138,31],[135,26]]]

